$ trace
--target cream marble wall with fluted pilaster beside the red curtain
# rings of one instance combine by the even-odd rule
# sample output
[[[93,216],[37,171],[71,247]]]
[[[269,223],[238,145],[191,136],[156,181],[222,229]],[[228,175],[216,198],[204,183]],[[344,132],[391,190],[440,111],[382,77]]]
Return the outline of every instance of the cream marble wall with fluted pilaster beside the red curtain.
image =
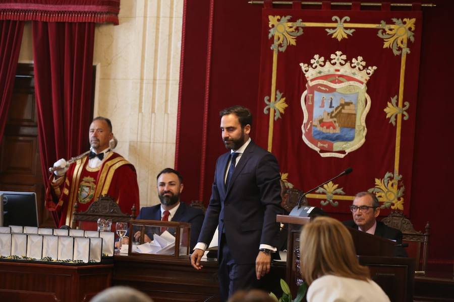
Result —
[[[95,29],[94,115],[112,120],[116,151],[137,170],[140,205],[152,205],[157,173],[175,164],[183,0],[122,0],[119,18]],[[30,23],[19,59],[33,60]]]

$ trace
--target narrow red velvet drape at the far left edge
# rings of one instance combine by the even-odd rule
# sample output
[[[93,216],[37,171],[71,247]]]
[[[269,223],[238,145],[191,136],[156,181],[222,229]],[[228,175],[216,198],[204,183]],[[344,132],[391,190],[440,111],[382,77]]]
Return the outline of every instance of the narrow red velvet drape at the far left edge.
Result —
[[[8,108],[14,87],[19,51],[21,49],[23,21],[0,21],[0,142],[3,138]]]

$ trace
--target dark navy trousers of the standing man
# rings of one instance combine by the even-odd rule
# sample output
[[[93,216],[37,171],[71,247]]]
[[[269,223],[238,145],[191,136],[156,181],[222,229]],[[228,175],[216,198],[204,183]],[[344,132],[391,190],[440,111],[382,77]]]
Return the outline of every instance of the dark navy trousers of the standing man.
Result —
[[[256,287],[257,277],[255,274],[255,263],[235,263],[235,260],[230,253],[229,245],[225,240],[224,233],[221,233],[219,248],[218,279],[221,301],[227,301],[229,297],[239,289]]]

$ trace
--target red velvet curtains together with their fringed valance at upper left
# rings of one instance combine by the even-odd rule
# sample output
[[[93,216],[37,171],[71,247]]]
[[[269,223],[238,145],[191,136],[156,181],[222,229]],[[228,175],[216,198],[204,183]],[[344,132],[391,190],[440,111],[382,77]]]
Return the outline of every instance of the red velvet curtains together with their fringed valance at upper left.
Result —
[[[120,0],[0,2],[0,140],[11,102],[23,21],[33,21],[33,56],[43,179],[56,159],[88,148],[95,23],[119,24]],[[6,21],[3,21],[6,20]],[[15,21],[11,21],[15,20]],[[62,23],[64,22],[64,23]],[[46,190],[48,184],[45,182]],[[58,217],[53,213],[55,222]]]

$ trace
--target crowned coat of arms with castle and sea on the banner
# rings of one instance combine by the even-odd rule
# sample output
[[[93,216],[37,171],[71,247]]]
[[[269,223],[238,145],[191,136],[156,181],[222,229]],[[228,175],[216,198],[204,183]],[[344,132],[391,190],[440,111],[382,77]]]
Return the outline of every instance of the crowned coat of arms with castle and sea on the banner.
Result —
[[[318,54],[300,63],[306,79],[301,97],[303,140],[322,157],[343,158],[366,141],[370,97],[366,83],[376,66],[364,68],[361,56],[347,61],[341,51],[326,61]]]

